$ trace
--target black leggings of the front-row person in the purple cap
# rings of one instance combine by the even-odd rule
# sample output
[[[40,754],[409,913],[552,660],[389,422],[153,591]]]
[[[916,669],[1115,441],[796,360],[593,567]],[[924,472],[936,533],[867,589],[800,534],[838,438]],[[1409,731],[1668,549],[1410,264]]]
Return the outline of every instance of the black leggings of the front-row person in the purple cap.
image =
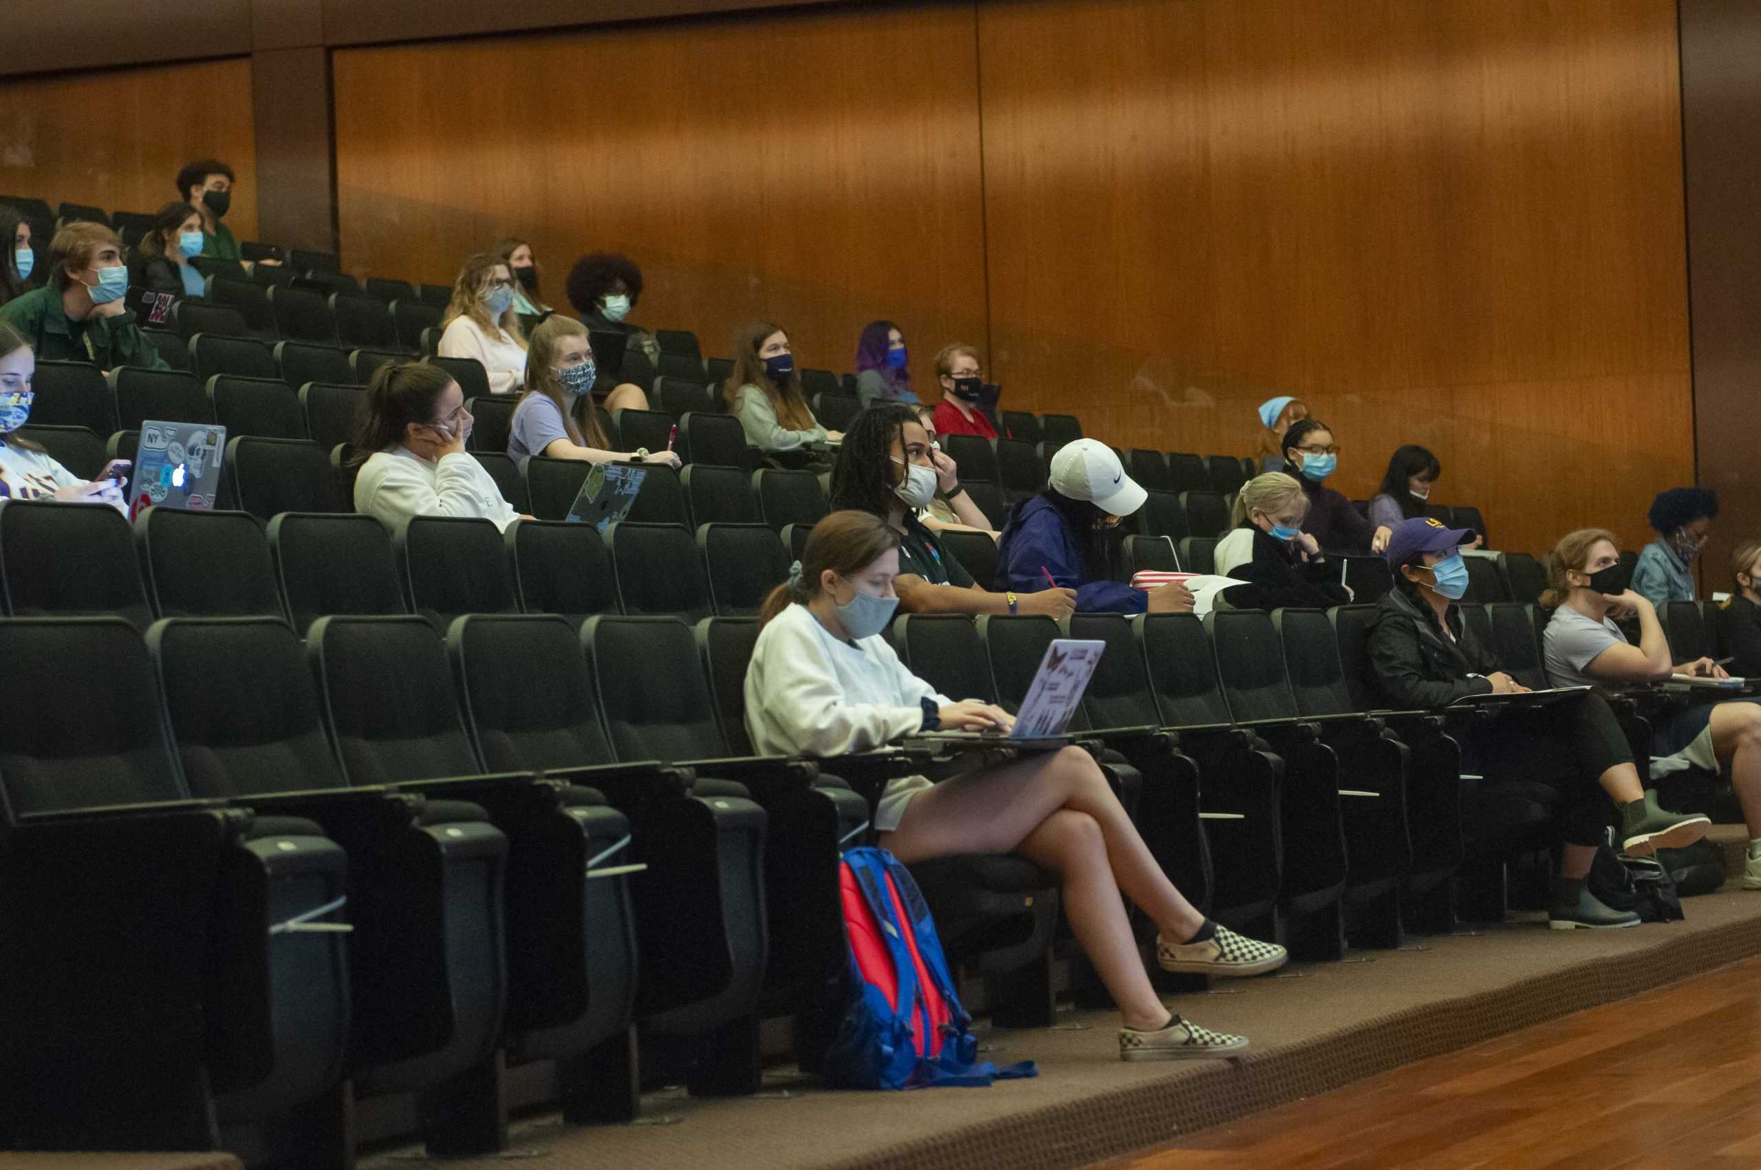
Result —
[[[1610,798],[1601,775],[1632,763],[1632,749],[1615,712],[1595,691],[1536,710],[1507,710],[1467,742],[1467,770],[1488,782],[1539,781],[1560,793],[1560,837],[1569,846],[1599,846]]]

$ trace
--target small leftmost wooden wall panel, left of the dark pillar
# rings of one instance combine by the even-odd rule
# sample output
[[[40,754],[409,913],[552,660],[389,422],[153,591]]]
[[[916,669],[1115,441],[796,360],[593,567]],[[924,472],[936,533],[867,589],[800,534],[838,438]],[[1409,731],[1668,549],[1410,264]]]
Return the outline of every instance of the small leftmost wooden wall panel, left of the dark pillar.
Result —
[[[178,169],[224,159],[238,174],[227,224],[257,233],[250,60],[0,81],[0,192],[157,211]]]

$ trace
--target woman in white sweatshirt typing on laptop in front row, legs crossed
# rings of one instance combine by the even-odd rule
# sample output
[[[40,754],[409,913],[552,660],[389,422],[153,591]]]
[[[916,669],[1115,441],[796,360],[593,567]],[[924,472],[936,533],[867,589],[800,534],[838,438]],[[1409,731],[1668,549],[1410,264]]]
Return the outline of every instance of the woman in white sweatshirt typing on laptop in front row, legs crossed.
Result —
[[[840,756],[917,731],[1000,731],[1013,719],[954,701],[912,675],[882,638],[898,597],[898,534],[866,511],[814,525],[785,585],[766,599],[747,668],[747,729],[775,756]],[[907,865],[967,853],[1020,853],[1062,878],[1064,913],[1118,1004],[1120,1059],[1238,1055],[1243,1036],[1171,1015],[1150,985],[1125,916],[1157,923],[1168,971],[1249,976],[1287,955],[1205,918],[1168,881],[1088,752],[1065,747],[976,768],[939,784],[891,781],[873,826]],[[1124,897],[1122,897],[1124,895]]]

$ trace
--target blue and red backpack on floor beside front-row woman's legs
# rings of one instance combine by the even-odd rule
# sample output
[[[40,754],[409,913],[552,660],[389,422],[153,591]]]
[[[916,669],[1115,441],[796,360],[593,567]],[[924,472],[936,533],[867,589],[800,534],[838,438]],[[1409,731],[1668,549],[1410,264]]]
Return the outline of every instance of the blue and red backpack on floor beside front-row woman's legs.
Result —
[[[976,1063],[972,1017],[954,994],[930,907],[891,853],[847,849],[838,892],[851,990],[826,1054],[826,1080],[845,1089],[919,1089],[1039,1075],[1032,1061]]]

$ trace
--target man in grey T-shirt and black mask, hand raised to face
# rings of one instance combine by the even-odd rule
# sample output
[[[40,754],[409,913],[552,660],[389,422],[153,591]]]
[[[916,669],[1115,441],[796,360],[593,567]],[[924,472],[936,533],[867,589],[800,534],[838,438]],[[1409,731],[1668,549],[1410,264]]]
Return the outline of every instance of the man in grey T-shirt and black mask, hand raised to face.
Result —
[[[1553,546],[1541,604],[1557,606],[1543,638],[1546,673],[1557,687],[1618,689],[1664,682],[1671,675],[1728,677],[1710,657],[1675,663],[1657,608],[1629,589],[1615,537],[1603,529],[1580,529]],[[1639,643],[1631,645],[1610,618],[1636,618]],[[1761,890],[1761,705],[1715,700],[1655,719],[1652,779],[1668,782],[1687,766],[1712,775],[1729,772],[1749,828],[1743,888]]]

